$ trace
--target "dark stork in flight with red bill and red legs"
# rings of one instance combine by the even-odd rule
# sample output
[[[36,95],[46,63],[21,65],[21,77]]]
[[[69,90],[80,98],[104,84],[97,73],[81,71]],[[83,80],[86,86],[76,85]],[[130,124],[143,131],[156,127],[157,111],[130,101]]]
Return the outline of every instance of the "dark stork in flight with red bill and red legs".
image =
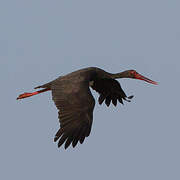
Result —
[[[99,104],[105,102],[109,106],[112,102],[116,106],[118,101],[123,104],[123,101],[130,102],[133,98],[133,96],[126,96],[120,83],[116,80],[118,78],[139,79],[157,85],[157,82],[142,76],[135,70],[112,74],[97,67],[89,67],[35,87],[35,89],[42,89],[20,94],[17,99],[52,91],[52,99],[58,109],[60,122],[60,128],[54,141],[58,141],[58,147],[65,144],[66,149],[70,144],[75,147],[78,141],[82,144],[84,139],[90,135],[95,100],[89,87],[99,93]]]

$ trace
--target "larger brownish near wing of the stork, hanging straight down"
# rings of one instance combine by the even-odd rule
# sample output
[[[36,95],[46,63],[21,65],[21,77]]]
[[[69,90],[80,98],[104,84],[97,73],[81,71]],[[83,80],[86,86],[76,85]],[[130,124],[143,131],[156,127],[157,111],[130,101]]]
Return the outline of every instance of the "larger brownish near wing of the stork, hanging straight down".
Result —
[[[54,141],[59,140],[58,147],[65,142],[65,149],[71,143],[73,147],[78,141],[82,144],[91,132],[95,105],[88,82],[55,81],[51,89],[60,120]]]

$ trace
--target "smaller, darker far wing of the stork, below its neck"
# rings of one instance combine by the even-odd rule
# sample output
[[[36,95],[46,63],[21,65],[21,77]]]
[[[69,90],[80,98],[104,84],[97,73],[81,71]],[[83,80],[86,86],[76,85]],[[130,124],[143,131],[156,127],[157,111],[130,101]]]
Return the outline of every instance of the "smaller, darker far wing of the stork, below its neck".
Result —
[[[111,101],[116,106],[117,101],[123,104],[123,100],[129,102],[127,99],[133,98],[133,96],[126,96],[120,83],[115,79],[98,79],[93,82],[91,87],[100,94],[99,104],[102,104],[105,100],[107,106],[110,105]]]

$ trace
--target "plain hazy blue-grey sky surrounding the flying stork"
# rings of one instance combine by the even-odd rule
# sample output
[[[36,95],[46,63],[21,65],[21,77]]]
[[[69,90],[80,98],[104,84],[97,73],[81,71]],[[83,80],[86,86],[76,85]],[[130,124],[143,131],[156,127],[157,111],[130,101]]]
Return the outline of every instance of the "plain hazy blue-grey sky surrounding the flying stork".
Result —
[[[83,145],[58,149],[51,93],[16,97],[89,66],[159,85],[121,79],[132,102],[96,103]],[[0,179],[179,180],[179,66],[179,0],[2,0]]]

